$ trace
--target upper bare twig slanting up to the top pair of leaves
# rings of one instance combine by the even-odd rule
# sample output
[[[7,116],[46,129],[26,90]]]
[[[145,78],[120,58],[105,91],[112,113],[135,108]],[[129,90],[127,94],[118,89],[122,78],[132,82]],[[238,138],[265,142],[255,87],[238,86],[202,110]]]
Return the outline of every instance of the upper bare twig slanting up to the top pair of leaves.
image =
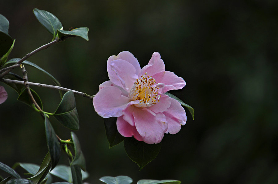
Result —
[[[74,37],[73,35],[66,35],[64,37],[61,37],[61,38],[56,38],[55,40],[53,40],[52,42],[49,42],[43,46],[40,46],[39,48],[37,48],[36,50],[33,50],[32,52],[26,54],[23,58],[21,58],[18,62],[16,62],[14,65],[18,65],[20,63],[22,63],[23,61],[25,61],[27,58],[29,58],[30,56],[32,56],[33,54],[36,54],[37,52],[39,52],[40,50],[44,50],[46,48],[48,48],[49,46],[52,46],[53,44],[55,43],[58,43],[58,42],[61,42],[61,41],[64,41],[66,38],[70,38],[70,37]],[[13,66],[14,66],[13,65]],[[14,67],[11,67],[9,68],[8,70],[6,70],[5,72],[3,72],[2,74],[0,74],[0,78],[4,77],[7,73],[9,73],[12,69],[14,69]],[[2,69],[3,70],[3,69]],[[1,71],[2,71],[1,70]],[[1,72],[0,71],[0,72]]]

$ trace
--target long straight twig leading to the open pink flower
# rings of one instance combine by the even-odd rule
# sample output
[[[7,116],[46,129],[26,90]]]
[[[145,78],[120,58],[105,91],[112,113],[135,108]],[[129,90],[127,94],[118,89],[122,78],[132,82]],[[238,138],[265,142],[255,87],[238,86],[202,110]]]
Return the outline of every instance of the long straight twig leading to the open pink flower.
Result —
[[[11,79],[6,79],[6,78],[2,78],[0,79],[0,81],[2,82],[6,82],[6,83],[13,83],[13,84],[22,84],[24,85],[23,81],[18,81],[18,80],[11,80]],[[60,86],[52,86],[52,85],[48,85],[48,84],[40,84],[40,83],[35,83],[35,82],[26,82],[28,85],[30,86],[38,86],[38,87],[44,87],[44,88],[50,88],[50,89],[55,89],[55,90],[62,90],[62,91],[73,91],[74,94],[78,94],[81,95],[82,97],[86,97],[86,98],[90,98],[93,99],[93,97],[95,95],[88,95],[86,93],[82,93],[76,90],[71,90],[68,88],[64,88],[64,87],[60,87]]]

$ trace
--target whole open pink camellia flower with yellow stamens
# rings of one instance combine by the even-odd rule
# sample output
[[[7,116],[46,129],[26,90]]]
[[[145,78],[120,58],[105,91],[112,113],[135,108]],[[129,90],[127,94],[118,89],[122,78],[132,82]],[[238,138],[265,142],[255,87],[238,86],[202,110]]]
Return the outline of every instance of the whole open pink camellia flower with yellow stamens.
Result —
[[[117,129],[122,136],[159,143],[164,133],[176,134],[186,123],[183,107],[165,95],[182,89],[185,81],[165,71],[158,52],[141,69],[133,54],[123,51],[108,58],[107,71],[110,81],[99,85],[93,105],[103,118],[118,117]]]

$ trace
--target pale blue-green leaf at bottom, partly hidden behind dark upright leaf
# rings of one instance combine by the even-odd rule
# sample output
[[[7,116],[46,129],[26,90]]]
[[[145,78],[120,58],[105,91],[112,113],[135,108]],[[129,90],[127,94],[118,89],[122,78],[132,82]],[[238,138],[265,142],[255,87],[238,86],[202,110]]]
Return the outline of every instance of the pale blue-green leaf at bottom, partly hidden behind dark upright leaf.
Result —
[[[57,176],[67,182],[72,182],[70,166],[57,165],[52,171],[50,171],[50,174],[53,174],[54,176]],[[83,170],[81,170],[81,174],[82,180],[89,177],[89,174]]]

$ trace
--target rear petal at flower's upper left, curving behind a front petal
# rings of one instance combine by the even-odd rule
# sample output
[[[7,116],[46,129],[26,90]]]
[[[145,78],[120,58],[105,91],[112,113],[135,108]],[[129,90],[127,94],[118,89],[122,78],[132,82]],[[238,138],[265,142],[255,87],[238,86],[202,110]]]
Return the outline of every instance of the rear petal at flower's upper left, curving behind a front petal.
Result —
[[[133,54],[131,54],[128,51],[123,51],[120,52],[117,56],[110,56],[107,60],[107,72],[108,72],[108,77],[110,78],[110,80],[113,78],[117,78],[116,73],[111,69],[111,62],[117,59],[121,59],[121,60],[125,60],[128,63],[130,63],[134,69],[135,69],[135,74],[137,74],[137,76],[141,76],[141,68],[139,65],[139,62],[137,61],[137,59],[133,56]],[[115,83],[115,81],[112,81],[114,84],[116,84],[117,86],[122,86],[121,82],[118,81]]]

